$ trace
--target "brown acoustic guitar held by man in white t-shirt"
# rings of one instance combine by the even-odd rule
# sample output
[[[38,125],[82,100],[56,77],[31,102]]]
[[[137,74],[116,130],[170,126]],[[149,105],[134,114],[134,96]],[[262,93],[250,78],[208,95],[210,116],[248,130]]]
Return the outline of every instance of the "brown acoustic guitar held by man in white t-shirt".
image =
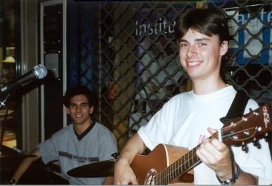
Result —
[[[270,107],[266,104],[242,117],[231,119],[209,138],[218,138],[226,145],[242,145],[244,148],[247,143],[253,142],[260,148],[259,139],[267,139],[269,131],[272,131],[272,125]],[[195,153],[197,147],[188,151],[183,147],[159,144],[148,155],[136,155],[131,168],[140,185],[188,185],[193,183],[192,168],[202,162]]]

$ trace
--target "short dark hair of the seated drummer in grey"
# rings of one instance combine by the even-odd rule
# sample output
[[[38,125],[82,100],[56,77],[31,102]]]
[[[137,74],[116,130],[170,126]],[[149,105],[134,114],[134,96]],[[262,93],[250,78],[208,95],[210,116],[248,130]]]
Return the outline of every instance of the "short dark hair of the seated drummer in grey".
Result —
[[[65,95],[63,96],[63,104],[65,107],[69,107],[70,100],[75,95],[85,95],[88,99],[89,105],[93,108],[96,108],[97,105],[97,94],[93,91],[90,91],[85,86],[75,86],[73,88],[70,88],[66,91]]]

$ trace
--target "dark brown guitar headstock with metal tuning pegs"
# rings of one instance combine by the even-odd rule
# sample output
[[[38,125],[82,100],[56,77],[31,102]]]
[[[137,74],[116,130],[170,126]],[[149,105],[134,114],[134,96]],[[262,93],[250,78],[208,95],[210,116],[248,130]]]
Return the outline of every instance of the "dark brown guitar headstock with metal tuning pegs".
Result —
[[[222,140],[226,145],[243,146],[253,142],[259,147],[259,139],[266,138],[272,131],[270,113],[270,106],[265,104],[242,117],[231,119],[221,128]]]

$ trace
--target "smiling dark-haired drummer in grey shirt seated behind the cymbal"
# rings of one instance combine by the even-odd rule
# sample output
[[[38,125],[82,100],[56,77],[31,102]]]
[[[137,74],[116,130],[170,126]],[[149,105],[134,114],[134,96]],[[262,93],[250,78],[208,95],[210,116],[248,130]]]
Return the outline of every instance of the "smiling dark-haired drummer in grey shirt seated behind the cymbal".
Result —
[[[41,157],[47,164],[58,160],[63,176],[71,185],[112,185],[113,178],[75,178],[67,175],[67,171],[84,164],[112,159],[111,154],[117,152],[114,135],[91,116],[96,107],[96,94],[83,86],[69,89],[64,96],[64,105],[73,124],[66,126],[41,142],[15,171],[11,183],[18,182],[33,161]]]

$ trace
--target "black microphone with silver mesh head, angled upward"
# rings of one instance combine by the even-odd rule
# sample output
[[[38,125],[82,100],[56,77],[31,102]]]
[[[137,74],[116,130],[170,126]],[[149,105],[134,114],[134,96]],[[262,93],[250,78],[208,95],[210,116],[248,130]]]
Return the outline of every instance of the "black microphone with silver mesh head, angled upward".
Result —
[[[32,70],[30,70],[30,72],[27,72],[27,74],[22,75],[18,79],[15,79],[14,81],[11,81],[11,83],[8,83],[6,86],[2,87],[1,92],[4,93],[7,91],[13,91],[15,88],[18,88],[34,79],[41,79],[46,77],[46,74],[47,69],[44,67],[44,65],[36,65]]]

